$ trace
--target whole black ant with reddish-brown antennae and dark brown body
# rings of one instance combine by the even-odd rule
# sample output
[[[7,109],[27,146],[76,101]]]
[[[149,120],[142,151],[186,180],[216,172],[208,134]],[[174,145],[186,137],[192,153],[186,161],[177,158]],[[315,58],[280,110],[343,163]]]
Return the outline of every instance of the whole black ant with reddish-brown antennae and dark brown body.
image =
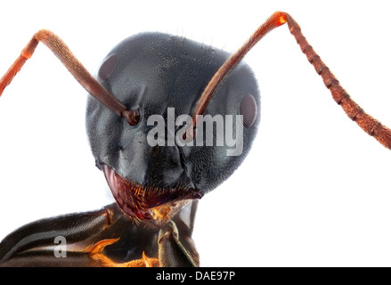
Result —
[[[191,240],[197,201],[232,175],[257,134],[257,82],[240,61],[266,33],[285,23],[347,116],[391,148],[391,131],[351,100],[287,13],[273,13],[231,56],[166,34],[126,38],[106,56],[97,80],[59,37],[40,30],[0,80],[0,94],[37,44],[47,45],[91,94],[87,133],[96,167],[116,203],[21,227],[0,244],[0,265],[200,265]],[[187,117],[170,121],[176,115]],[[231,119],[231,125],[225,122],[220,132],[198,141],[208,125],[206,120],[200,124],[204,115],[240,115],[241,120]],[[152,116],[158,117],[150,121]],[[232,135],[224,138],[236,140],[219,145],[227,126]],[[217,144],[206,142],[210,136]],[[233,146],[241,151],[232,154]],[[58,237],[66,241],[66,251],[53,243]]]

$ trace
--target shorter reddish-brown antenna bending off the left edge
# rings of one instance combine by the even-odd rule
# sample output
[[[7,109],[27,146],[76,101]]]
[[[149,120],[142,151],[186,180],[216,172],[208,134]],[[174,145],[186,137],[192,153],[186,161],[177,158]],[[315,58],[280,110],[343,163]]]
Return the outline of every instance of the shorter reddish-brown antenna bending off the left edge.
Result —
[[[137,110],[127,110],[126,107],[118,102],[118,100],[107,91],[86,68],[77,61],[75,55],[70,52],[69,47],[57,37],[53,32],[47,29],[39,30],[34,37],[29,41],[29,44],[21,51],[20,56],[13,62],[10,69],[0,79],[0,96],[3,94],[4,88],[9,85],[15,75],[23,67],[24,63],[29,60],[39,42],[44,43],[52,52],[60,59],[62,64],[76,78],[78,83],[82,85],[89,94],[92,94],[103,105],[113,110],[118,116],[127,119],[130,125],[135,125],[138,121],[139,114]]]

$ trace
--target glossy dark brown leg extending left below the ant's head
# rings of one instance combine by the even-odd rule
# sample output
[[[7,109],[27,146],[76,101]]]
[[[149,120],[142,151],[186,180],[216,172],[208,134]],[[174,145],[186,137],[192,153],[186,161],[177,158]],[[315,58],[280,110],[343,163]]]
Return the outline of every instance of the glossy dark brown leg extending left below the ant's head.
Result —
[[[114,207],[107,206],[92,212],[26,224],[1,241],[0,267],[86,266],[89,264],[88,255],[71,248],[83,248],[86,240],[109,228],[117,219],[114,210]]]

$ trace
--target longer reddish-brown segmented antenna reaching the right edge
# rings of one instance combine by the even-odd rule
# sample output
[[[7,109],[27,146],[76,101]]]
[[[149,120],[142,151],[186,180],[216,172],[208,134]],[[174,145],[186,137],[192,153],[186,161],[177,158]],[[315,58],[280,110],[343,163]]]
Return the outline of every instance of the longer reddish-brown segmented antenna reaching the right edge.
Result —
[[[208,107],[212,96],[215,94],[218,86],[223,82],[224,77],[232,70],[243,56],[257,42],[265,36],[273,28],[277,28],[284,23],[288,23],[289,31],[293,37],[296,38],[297,44],[300,46],[303,53],[305,53],[308,61],[314,66],[316,72],[322,77],[324,85],[330,90],[334,100],[345,110],[346,115],[354,120],[367,134],[370,134],[383,144],[387,149],[391,149],[391,130],[387,126],[383,126],[377,119],[368,115],[362,108],[354,102],[345,89],[339,85],[337,78],[331,73],[330,69],[321,60],[321,57],[314,52],[311,45],[308,44],[305,37],[301,33],[301,28],[286,12],[274,12],[273,15],[260,26],[256,32],[248,38],[248,41],[240,47],[240,49],[231,55],[231,57],[224,62],[224,64],[216,71],[216,74],[209,81],[204,92],[200,96],[200,101],[197,103],[196,109],[192,116],[193,130],[192,137],[194,137],[194,130],[196,127],[197,115],[202,115]],[[190,131],[190,130],[189,130]],[[187,133],[189,134],[189,133]],[[191,132],[190,132],[191,134]]]

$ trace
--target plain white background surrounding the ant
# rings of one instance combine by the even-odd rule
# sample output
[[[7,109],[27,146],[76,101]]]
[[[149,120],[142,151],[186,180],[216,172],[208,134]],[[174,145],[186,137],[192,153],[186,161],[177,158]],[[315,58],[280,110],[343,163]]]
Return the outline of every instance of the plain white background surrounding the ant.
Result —
[[[95,72],[120,40],[162,31],[236,50],[289,12],[362,108],[391,126],[389,2],[9,1],[0,73],[40,28]],[[261,125],[248,158],[200,201],[203,266],[390,266],[391,152],[346,118],[288,28],[246,57]],[[0,98],[0,239],[30,221],[109,204],[85,130],[86,92],[44,45]]]

